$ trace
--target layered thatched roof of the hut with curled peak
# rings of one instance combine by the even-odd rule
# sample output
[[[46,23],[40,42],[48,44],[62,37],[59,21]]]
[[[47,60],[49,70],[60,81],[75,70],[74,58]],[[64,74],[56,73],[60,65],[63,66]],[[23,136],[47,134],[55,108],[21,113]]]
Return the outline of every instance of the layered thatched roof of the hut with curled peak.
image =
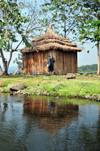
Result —
[[[45,34],[31,41],[33,49],[25,47],[20,51],[22,53],[49,50],[82,51],[81,48],[77,47],[77,45],[72,43],[70,40],[67,40],[66,38],[58,36],[56,33],[54,33],[52,30],[52,25],[49,27],[48,31]]]

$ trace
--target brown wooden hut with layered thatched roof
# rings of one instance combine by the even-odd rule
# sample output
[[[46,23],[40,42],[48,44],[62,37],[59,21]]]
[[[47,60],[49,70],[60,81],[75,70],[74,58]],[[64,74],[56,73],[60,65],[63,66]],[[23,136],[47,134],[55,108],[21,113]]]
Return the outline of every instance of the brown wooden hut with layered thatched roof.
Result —
[[[52,25],[45,34],[31,42],[33,49],[25,47],[20,50],[23,54],[24,74],[47,74],[49,55],[55,59],[55,74],[77,72],[77,52],[82,49],[70,40],[54,33]]]

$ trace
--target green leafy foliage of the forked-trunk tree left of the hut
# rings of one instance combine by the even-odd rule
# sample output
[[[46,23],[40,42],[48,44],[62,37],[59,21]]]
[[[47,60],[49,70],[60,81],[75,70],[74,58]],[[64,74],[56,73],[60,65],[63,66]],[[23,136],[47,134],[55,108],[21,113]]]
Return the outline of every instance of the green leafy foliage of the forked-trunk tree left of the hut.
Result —
[[[0,0],[0,48],[9,51],[10,42],[18,42],[17,34],[22,36],[23,41],[28,44],[24,36],[23,23],[28,19],[21,16],[17,0]]]

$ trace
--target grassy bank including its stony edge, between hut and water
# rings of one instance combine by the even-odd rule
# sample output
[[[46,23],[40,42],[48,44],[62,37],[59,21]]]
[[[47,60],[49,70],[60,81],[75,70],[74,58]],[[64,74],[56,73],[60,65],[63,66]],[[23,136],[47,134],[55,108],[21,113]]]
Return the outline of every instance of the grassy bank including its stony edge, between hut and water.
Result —
[[[37,95],[56,98],[76,98],[100,102],[100,76],[75,74],[74,79],[67,75],[17,75],[0,77],[0,92],[11,95]],[[24,90],[10,91],[15,83],[26,86]]]

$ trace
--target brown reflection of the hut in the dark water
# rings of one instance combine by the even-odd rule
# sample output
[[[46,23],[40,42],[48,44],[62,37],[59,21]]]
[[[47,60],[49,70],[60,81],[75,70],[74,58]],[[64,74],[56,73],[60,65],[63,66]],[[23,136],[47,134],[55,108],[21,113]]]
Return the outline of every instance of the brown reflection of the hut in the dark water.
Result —
[[[78,118],[78,105],[50,102],[49,99],[26,98],[24,115],[37,119],[38,128],[55,133],[63,126],[68,126]]]

